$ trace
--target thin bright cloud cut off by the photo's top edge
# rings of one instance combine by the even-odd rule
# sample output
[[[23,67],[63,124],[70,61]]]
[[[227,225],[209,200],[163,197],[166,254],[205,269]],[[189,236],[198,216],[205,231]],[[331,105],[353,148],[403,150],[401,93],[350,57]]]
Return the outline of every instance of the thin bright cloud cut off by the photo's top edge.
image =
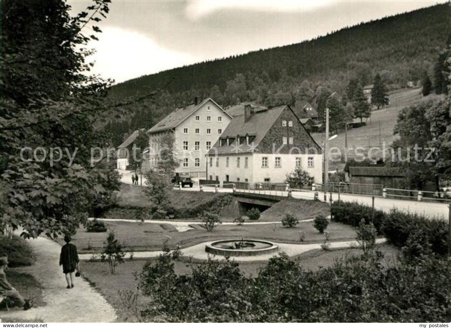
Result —
[[[186,14],[188,18],[197,19],[223,9],[303,12],[330,5],[332,2],[332,0],[198,0],[189,1],[186,6]]]

